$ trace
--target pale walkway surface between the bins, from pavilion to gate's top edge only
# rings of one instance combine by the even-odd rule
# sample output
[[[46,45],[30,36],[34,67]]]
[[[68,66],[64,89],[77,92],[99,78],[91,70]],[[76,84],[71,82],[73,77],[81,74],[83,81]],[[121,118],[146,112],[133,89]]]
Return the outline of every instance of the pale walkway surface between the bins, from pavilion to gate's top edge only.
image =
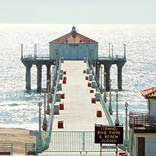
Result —
[[[86,74],[83,70],[87,69],[86,63],[82,61],[65,61],[61,69],[66,71],[67,83],[63,84],[62,92],[65,93],[64,110],[60,115],[54,116],[53,130],[57,131],[57,122],[64,121],[64,129],[72,131],[94,131],[95,123],[108,125],[107,118],[103,113],[102,118],[96,116],[96,111],[101,110],[100,102],[91,103],[91,98],[95,97],[90,93],[88,81],[85,80]],[[60,129],[59,129],[60,130]]]

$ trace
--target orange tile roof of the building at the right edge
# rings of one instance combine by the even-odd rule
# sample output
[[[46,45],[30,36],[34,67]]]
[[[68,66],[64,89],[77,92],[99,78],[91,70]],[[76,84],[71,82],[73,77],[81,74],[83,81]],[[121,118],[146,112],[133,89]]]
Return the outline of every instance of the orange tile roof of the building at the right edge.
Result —
[[[142,94],[142,96],[144,96],[145,98],[156,98],[156,87],[143,90],[143,91],[141,92],[141,94]]]

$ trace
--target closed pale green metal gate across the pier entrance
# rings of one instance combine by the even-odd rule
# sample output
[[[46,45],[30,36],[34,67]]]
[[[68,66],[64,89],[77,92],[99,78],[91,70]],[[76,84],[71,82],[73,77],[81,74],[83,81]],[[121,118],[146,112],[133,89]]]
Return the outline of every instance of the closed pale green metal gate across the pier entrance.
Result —
[[[94,131],[53,131],[51,133],[51,143],[47,152],[99,152],[100,145],[95,144]],[[103,152],[115,152],[109,149],[111,144],[105,144],[107,149]]]

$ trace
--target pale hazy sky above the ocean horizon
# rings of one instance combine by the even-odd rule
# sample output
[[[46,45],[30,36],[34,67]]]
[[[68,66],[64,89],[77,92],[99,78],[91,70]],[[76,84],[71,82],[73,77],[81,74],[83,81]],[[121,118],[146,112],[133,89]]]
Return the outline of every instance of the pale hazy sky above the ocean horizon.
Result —
[[[0,0],[0,23],[156,24],[156,0]]]

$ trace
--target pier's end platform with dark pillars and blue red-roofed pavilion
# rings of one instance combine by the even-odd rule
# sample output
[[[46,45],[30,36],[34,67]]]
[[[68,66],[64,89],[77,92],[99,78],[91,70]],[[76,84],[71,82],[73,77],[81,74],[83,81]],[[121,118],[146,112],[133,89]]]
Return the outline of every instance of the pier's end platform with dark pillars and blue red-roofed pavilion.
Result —
[[[112,46],[112,49],[111,49]],[[86,58],[91,69],[95,71],[95,79],[100,85],[99,78],[105,74],[106,83],[103,88],[110,90],[110,69],[112,65],[117,65],[118,89],[122,90],[122,68],[126,63],[126,45],[124,44],[124,55],[113,55],[113,45],[109,43],[109,55],[99,57],[98,42],[81,35],[72,27],[72,31],[49,42],[49,55],[47,57],[37,56],[37,45],[34,46],[34,54],[24,55],[23,44],[21,44],[21,61],[26,67],[26,89],[31,90],[31,67],[37,67],[37,92],[41,92],[42,86],[42,66],[47,67],[47,80],[50,80],[50,68],[55,65],[57,59],[83,60]],[[100,68],[103,66],[103,71]],[[104,77],[104,76],[103,76]],[[47,81],[48,82],[48,81]],[[102,84],[101,84],[102,86]]]

